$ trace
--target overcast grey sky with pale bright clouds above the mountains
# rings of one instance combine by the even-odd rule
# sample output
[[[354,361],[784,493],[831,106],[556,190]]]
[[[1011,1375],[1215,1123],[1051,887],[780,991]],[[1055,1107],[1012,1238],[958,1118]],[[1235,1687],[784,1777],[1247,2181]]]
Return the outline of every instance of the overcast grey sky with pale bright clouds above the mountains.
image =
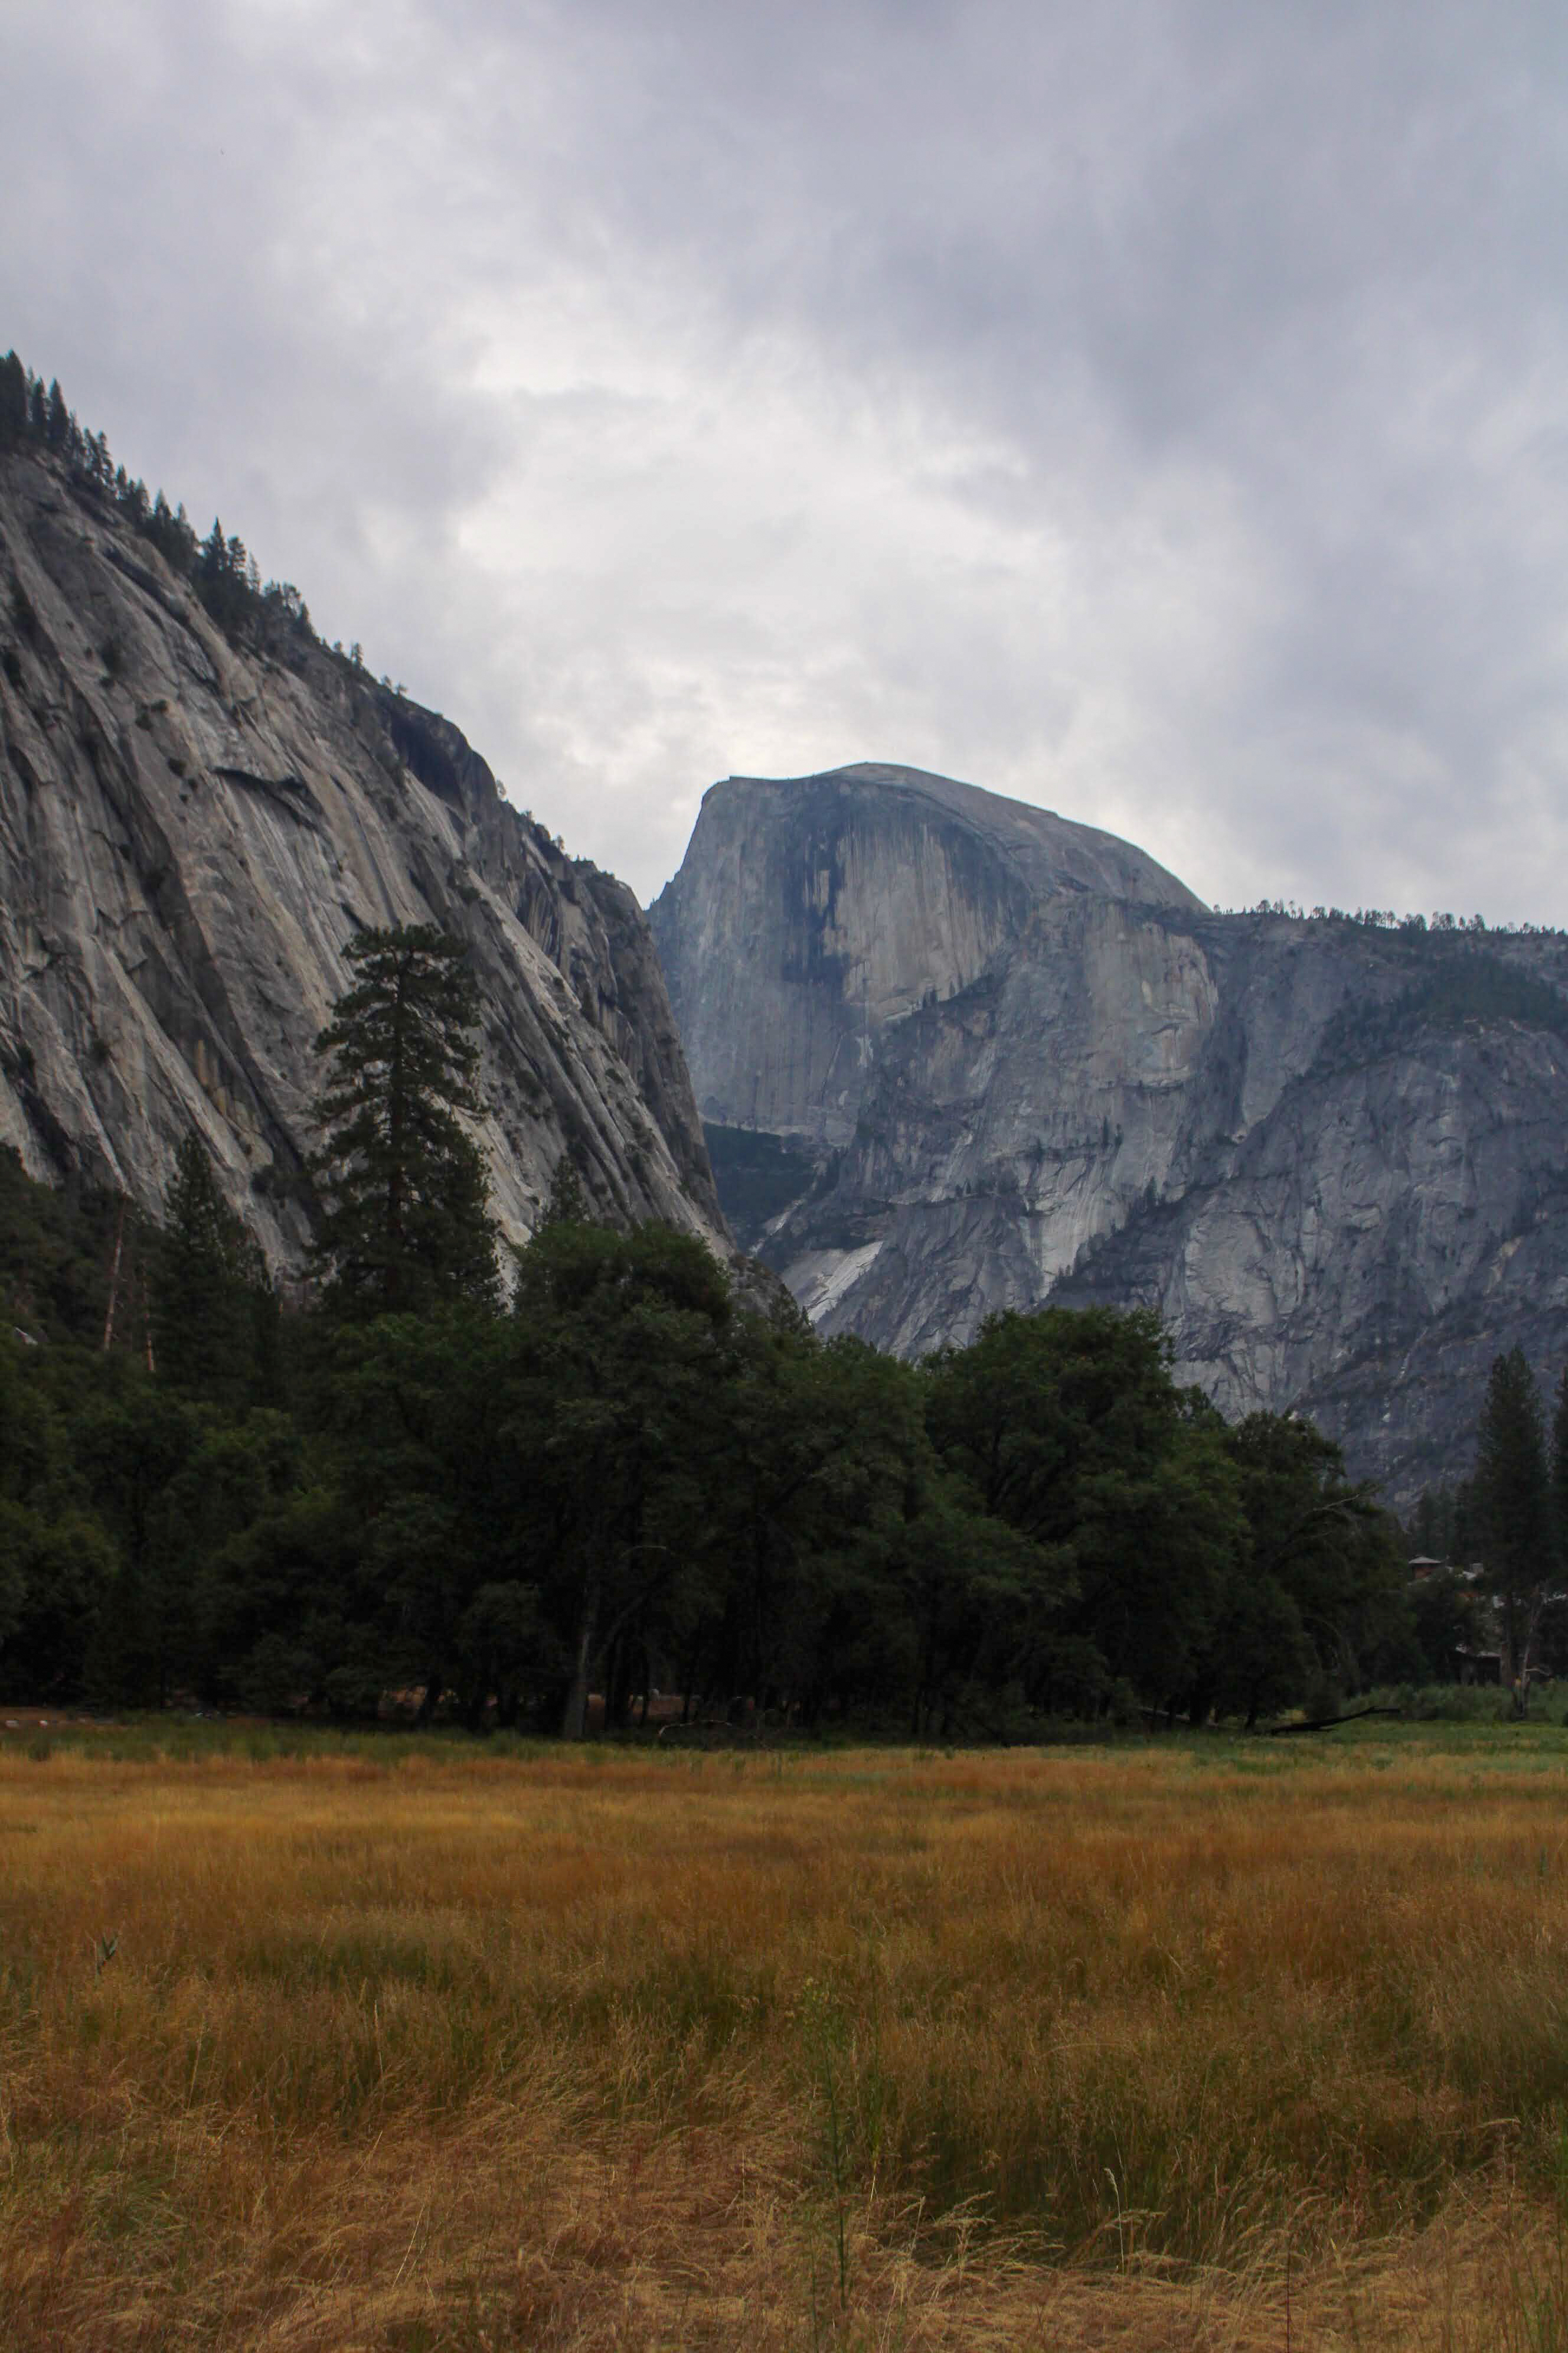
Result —
[[[1561,0],[5,0],[0,351],[651,896],[898,760],[1568,922]]]

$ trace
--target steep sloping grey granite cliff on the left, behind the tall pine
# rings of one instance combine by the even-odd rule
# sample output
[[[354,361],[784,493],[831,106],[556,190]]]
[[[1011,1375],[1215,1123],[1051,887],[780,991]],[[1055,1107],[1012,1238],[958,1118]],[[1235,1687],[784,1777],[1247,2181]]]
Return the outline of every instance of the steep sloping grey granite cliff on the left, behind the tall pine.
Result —
[[[390,922],[470,944],[512,1240],[569,1151],[609,1217],[726,1245],[632,894],[444,718],[306,638],[237,652],[113,506],[0,459],[0,1141],[155,1207],[195,1127],[296,1266],[313,1040]]]

